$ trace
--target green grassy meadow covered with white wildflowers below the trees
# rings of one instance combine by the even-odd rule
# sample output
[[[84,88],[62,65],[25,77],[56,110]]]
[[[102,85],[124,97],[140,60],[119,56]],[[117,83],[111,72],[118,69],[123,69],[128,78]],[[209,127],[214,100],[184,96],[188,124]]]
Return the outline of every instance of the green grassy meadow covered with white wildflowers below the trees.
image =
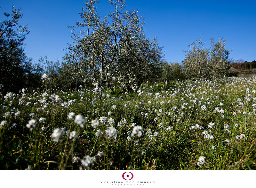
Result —
[[[7,93],[0,169],[256,169],[256,79]]]

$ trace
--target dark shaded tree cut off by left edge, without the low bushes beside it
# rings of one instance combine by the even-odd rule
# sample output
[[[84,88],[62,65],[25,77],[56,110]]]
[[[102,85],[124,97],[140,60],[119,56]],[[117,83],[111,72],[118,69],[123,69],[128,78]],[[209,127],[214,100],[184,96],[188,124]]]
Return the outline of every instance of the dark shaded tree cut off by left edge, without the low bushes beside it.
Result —
[[[18,23],[22,18],[21,9],[12,7],[12,14],[4,12],[6,19],[0,21],[0,84],[3,93],[18,92],[25,73],[23,65],[27,62],[23,41],[29,33],[27,26]]]

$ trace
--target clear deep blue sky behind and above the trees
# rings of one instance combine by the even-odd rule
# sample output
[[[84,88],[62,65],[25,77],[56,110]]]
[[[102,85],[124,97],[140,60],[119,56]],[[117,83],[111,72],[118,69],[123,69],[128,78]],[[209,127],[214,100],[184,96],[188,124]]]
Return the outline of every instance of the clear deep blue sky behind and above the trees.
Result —
[[[67,25],[75,25],[84,7],[83,0],[8,0],[0,5],[3,13],[11,13],[12,5],[21,7],[21,25],[28,24],[25,52],[37,63],[40,56],[62,60],[63,49],[72,42]],[[98,13],[107,16],[111,10],[108,0],[96,4]],[[210,38],[226,38],[230,57],[256,60],[256,2],[255,1],[153,1],[126,0],[125,10],[137,9],[144,17],[144,33],[150,40],[158,38],[167,61],[184,60],[191,41],[199,39],[208,46]],[[254,51],[252,51],[254,50]],[[252,51],[252,52],[251,52]],[[251,53],[249,53],[251,52]],[[247,54],[249,53],[249,54]],[[247,55],[245,55],[247,54]]]

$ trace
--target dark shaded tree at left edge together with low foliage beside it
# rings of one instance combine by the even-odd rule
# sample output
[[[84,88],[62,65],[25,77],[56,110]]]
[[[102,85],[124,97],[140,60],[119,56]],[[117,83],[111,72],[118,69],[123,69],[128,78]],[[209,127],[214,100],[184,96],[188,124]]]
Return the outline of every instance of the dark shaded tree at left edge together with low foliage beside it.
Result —
[[[2,93],[18,92],[23,87],[35,89],[41,86],[41,64],[33,64],[24,53],[27,26],[19,24],[21,9],[12,7],[12,14],[4,13],[6,19],[0,21],[0,84]]]

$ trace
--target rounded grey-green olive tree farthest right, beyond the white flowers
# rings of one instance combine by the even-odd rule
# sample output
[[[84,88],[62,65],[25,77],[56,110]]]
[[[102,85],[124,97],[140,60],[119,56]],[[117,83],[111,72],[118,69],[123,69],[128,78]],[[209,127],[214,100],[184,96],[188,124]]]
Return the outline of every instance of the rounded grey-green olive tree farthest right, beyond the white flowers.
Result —
[[[215,79],[228,74],[229,50],[225,49],[226,39],[215,42],[211,38],[211,48],[208,50],[201,41],[191,42],[190,50],[185,51],[183,70],[188,78]]]

